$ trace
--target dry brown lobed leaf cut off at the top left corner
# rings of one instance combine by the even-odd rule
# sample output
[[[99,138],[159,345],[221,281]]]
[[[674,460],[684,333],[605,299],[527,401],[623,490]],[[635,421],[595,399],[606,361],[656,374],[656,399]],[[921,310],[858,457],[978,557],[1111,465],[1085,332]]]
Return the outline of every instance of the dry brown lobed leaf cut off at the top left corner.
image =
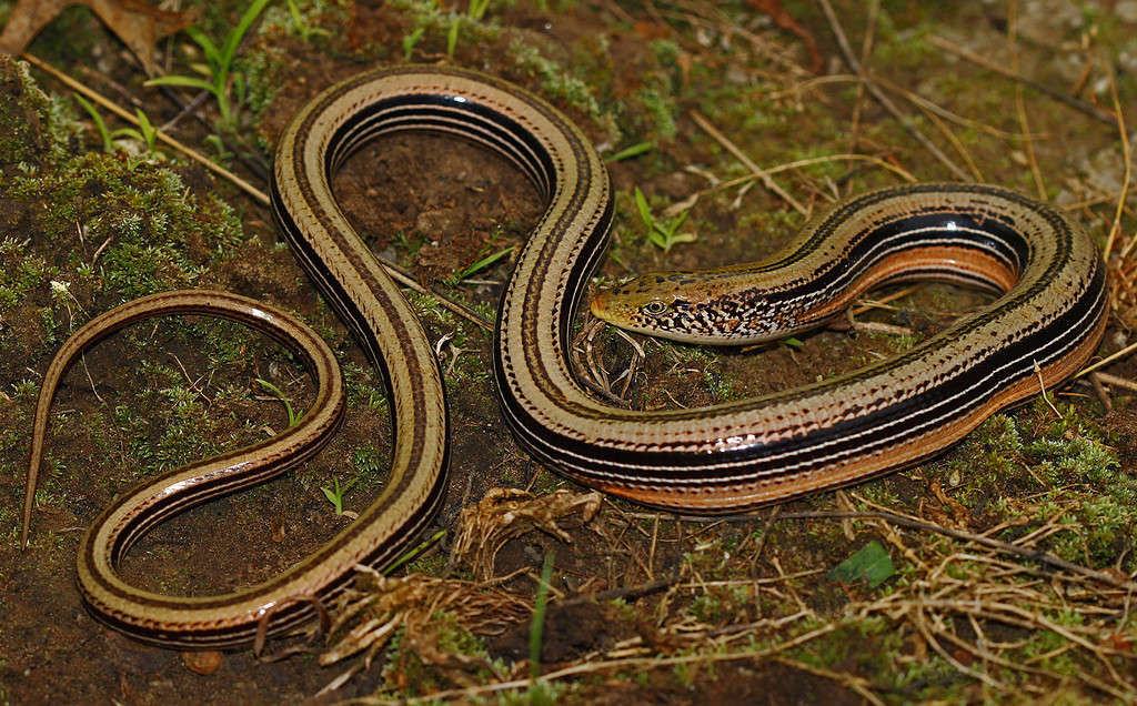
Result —
[[[158,74],[158,40],[192,25],[200,15],[200,9],[159,10],[143,0],[19,0],[0,34],[0,51],[19,55],[40,30],[72,5],[91,8],[142,61],[150,76]]]

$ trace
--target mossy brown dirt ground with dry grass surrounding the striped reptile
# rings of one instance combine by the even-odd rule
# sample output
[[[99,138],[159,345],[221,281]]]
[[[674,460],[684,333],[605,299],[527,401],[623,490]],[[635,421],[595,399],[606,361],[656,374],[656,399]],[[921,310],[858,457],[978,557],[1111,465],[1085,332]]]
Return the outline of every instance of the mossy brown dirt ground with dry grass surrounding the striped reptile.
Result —
[[[0,19],[14,5],[0,2]],[[478,5],[274,1],[240,43],[227,122],[209,94],[143,85],[86,8],[52,18],[27,52],[262,191],[277,135],[339,78],[412,60],[514,81],[612,158],[616,217],[597,285],[763,258],[836,198],[908,176],[1004,184],[1107,248],[1113,315],[1098,357],[1129,343],[1137,2]],[[219,42],[248,6],[175,9],[193,7]],[[158,50],[169,74],[207,59],[185,33]],[[330,606],[359,614],[330,636],[269,645],[279,659],[236,649],[194,671],[199,655],[100,625],[74,575],[101,508],[158,470],[279,432],[314,391],[296,356],[234,324],[164,319],[109,338],[56,396],[22,550],[35,396],[69,332],[140,294],[216,288],[296,313],[345,367],[347,421],[318,458],[132,548],[124,579],[163,593],[238,590],[346,526],[384,482],[388,400],[256,197],[168,146],[148,149],[146,135],[111,135],[125,123],[100,108],[105,142],[49,72],[3,63],[0,78],[0,704],[1137,700],[1129,357],[914,468],[746,516],[682,517],[591,496],[526,457],[498,409],[490,334],[420,294],[454,445],[421,551],[387,579],[362,574]],[[376,254],[487,321],[542,208],[508,163],[433,135],[368,146],[334,189]],[[673,230],[691,242],[653,243],[637,190],[661,231],[687,213]],[[583,373],[603,368],[632,407],[706,406],[855,371],[990,301],[946,284],[894,288],[858,307],[853,327],[721,350],[594,331],[582,312],[575,348]],[[863,550],[885,565],[879,583],[838,570]],[[371,634],[350,633],[367,620],[389,634],[370,651],[343,648]],[[322,665],[335,646],[350,654]]]

